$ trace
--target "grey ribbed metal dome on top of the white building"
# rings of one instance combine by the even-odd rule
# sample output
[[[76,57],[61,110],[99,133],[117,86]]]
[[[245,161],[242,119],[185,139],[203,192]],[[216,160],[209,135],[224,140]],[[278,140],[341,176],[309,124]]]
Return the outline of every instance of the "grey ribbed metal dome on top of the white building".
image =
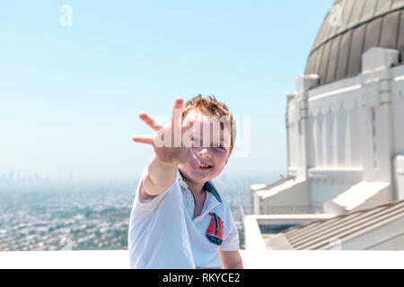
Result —
[[[404,58],[404,0],[337,0],[326,15],[307,60],[305,74],[320,84],[355,76],[372,47],[394,48]]]

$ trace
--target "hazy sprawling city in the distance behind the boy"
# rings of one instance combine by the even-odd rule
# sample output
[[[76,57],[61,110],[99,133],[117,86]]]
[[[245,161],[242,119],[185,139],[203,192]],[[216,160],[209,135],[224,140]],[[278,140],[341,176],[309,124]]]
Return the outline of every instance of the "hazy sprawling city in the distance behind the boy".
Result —
[[[127,248],[138,179],[62,179],[24,184],[0,178],[0,251]],[[215,180],[230,204],[241,242],[242,214],[251,213],[250,184],[263,179]]]

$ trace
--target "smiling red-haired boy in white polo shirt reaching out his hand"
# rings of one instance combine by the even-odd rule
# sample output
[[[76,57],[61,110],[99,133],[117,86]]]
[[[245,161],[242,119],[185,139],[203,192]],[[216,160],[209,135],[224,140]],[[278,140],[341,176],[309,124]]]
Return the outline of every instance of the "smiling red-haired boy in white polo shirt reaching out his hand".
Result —
[[[154,154],[130,216],[131,268],[243,268],[230,207],[211,182],[233,150],[232,113],[199,95],[185,107],[175,100],[169,126],[139,117],[157,135],[133,138],[152,144]]]

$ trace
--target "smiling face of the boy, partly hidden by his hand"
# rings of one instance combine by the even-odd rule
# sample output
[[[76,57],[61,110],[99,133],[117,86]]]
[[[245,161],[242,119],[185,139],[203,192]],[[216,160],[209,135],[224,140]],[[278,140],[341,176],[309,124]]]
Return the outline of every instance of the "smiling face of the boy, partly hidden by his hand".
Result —
[[[187,163],[180,164],[179,169],[189,180],[202,183],[216,178],[224,170],[230,156],[231,133],[229,128],[220,127],[218,117],[209,117],[201,112],[189,111],[183,125],[189,122],[193,123],[189,131],[191,150],[200,164],[198,170],[192,170]]]

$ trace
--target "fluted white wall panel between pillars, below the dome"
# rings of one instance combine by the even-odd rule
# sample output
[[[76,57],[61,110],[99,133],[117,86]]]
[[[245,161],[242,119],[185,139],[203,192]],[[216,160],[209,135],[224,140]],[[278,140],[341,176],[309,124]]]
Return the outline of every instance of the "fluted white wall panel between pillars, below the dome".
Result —
[[[327,96],[327,91],[321,94],[314,91],[309,98],[311,167],[328,170],[361,168],[359,94],[341,91]]]

